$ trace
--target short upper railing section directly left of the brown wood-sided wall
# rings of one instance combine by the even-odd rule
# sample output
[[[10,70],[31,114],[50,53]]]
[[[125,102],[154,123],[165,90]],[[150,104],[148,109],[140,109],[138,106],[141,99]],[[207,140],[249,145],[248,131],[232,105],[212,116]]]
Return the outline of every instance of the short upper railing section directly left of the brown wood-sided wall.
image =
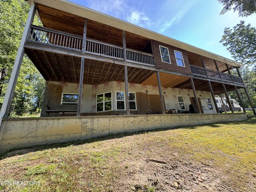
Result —
[[[126,49],[126,56],[128,62],[155,66],[154,56],[152,54]]]

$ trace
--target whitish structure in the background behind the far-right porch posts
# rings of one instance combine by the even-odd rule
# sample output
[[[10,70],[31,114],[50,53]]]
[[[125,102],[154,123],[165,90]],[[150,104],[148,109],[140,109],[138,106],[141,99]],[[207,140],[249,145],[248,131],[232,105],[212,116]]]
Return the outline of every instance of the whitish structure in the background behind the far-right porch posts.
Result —
[[[243,108],[238,104],[238,102],[236,100],[234,100],[234,99],[229,99],[229,100],[230,100],[232,109],[234,111],[242,111],[243,110]],[[226,102],[226,99],[216,97],[215,101],[217,103],[218,110],[220,110],[221,112],[231,111],[228,103]]]

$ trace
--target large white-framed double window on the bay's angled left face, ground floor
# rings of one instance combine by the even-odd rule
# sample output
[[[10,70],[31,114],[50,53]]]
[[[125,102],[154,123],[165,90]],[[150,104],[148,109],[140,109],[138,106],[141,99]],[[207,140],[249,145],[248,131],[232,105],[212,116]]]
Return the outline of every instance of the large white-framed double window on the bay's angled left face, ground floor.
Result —
[[[97,112],[112,110],[112,92],[97,95]]]

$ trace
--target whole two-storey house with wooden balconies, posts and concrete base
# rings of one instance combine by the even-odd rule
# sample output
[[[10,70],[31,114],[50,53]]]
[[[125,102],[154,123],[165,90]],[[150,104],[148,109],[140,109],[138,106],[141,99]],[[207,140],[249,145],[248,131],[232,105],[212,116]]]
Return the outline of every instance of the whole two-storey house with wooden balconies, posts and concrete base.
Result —
[[[0,112],[3,148],[246,118],[218,114],[214,99],[224,94],[231,106],[228,92],[244,89],[250,101],[243,64],[66,0],[28,3]],[[35,14],[43,27],[32,24]],[[4,118],[24,54],[46,80],[41,118]],[[198,114],[168,114],[190,104]]]

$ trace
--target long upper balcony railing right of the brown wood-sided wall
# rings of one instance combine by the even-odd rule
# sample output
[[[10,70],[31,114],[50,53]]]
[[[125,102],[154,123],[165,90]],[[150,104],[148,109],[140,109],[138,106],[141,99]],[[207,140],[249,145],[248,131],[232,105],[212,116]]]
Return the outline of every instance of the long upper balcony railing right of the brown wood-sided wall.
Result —
[[[202,67],[192,66],[192,65],[190,65],[190,69],[191,69],[192,74],[195,74],[195,75],[204,76],[204,77],[208,76],[208,78],[224,80],[224,81],[228,81],[228,82],[233,82],[233,80],[234,80],[235,83],[243,84],[242,78],[233,76],[233,75],[231,77],[230,74],[226,74],[226,73],[222,73],[222,72],[219,73],[217,71],[204,69]],[[207,75],[206,75],[206,73],[207,73]],[[232,80],[232,78],[233,78],[233,80]]]

